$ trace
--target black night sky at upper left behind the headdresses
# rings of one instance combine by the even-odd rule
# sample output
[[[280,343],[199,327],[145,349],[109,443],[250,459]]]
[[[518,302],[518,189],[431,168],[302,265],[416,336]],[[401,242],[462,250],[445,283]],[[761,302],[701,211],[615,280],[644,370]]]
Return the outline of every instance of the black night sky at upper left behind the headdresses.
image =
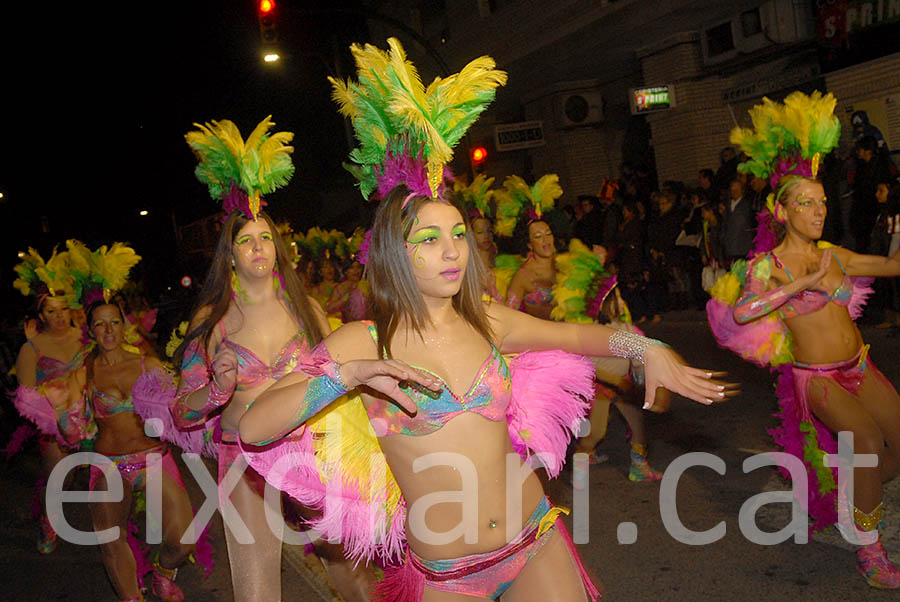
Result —
[[[75,4],[97,12],[0,15],[4,300],[17,294],[17,251],[49,255],[71,237],[131,242],[154,282],[177,267],[175,225],[217,209],[184,141],[194,122],[231,119],[246,137],[271,114],[275,131],[295,133],[294,178],[268,197],[276,220],[305,230],[359,219],[326,76],[352,73],[348,46],[368,41],[360,2],[279,2],[275,69],[261,60],[254,0]]]

